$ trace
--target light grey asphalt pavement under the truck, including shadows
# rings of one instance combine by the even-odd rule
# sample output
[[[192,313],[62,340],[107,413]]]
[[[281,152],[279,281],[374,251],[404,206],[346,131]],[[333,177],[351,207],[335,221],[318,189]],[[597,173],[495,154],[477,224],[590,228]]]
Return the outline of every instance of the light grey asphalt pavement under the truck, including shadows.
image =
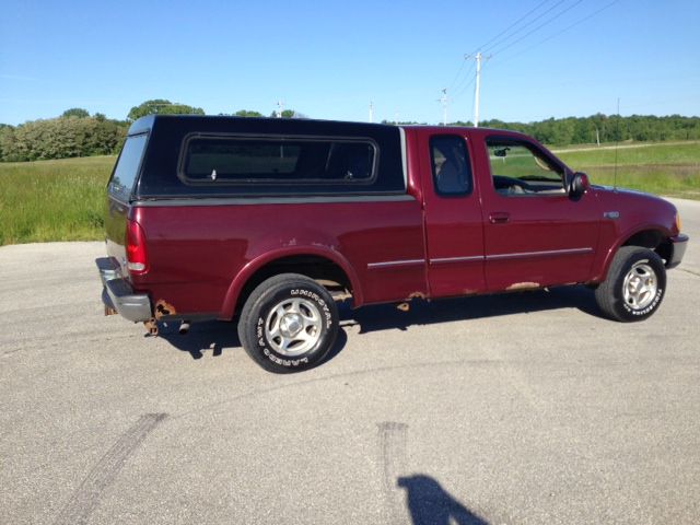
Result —
[[[649,320],[583,287],[343,311],[273,375],[104,317],[101,243],[0,248],[0,522],[698,523],[700,202]]]

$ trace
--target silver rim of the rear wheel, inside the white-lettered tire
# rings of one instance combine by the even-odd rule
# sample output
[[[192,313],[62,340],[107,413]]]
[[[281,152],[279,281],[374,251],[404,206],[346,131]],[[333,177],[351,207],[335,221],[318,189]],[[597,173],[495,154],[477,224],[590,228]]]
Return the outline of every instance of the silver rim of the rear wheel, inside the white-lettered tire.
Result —
[[[305,299],[285,299],[277,303],[265,322],[265,336],[272,349],[288,357],[307,352],[323,331],[320,312]]]

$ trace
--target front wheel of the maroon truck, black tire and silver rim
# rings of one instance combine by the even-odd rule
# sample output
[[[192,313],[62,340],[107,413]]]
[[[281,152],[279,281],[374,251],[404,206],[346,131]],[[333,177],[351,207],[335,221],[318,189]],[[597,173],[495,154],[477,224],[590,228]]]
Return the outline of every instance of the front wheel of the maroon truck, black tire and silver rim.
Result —
[[[606,316],[631,323],[651,317],[665,293],[666,268],[661,257],[648,248],[622,246],[595,290],[595,300]]]

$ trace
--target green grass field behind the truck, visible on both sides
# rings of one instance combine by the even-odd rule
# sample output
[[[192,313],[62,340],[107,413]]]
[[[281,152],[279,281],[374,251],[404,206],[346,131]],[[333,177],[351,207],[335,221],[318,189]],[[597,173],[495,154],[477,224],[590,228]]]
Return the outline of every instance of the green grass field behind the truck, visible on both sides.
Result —
[[[556,150],[594,184],[611,185],[614,148]],[[700,142],[621,144],[617,185],[700,199]],[[0,245],[98,240],[114,156],[0,163]]]

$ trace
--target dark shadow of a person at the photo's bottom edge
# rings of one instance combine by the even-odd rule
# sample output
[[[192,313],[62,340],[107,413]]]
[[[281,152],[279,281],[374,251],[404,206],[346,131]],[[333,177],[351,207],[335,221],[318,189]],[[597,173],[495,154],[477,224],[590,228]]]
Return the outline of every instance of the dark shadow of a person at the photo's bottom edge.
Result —
[[[396,483],[406,490],[406,505],[413,525],[488,525],[455,500],[442,486],[422,474],[400,477]]]

